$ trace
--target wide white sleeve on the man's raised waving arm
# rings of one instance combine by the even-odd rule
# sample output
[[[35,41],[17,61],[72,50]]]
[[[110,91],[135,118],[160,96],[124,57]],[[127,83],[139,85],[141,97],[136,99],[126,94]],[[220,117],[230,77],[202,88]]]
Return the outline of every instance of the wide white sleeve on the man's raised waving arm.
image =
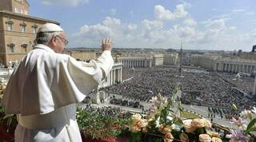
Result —
[[[73,57],[69,57],[67,70],[63,73],[69,74],[71,82],[74,82],[81,93],[87,95],[93,89],[97,89],[102,79],[110,73],[113,65],[114,61],[110,51],[104,51],[98,59],[91,60],[89,63],[75,61]]]

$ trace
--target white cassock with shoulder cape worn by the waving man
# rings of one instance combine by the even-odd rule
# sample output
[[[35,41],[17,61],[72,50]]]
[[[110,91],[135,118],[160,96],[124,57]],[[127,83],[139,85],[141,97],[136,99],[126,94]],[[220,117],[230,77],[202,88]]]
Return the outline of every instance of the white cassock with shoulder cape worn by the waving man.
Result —
[[[16,142],[79,142],[76,103],[82,101],[114,65],[110,51],[90,63],[35,45],[10,77],[2,105],[18,115]]]

